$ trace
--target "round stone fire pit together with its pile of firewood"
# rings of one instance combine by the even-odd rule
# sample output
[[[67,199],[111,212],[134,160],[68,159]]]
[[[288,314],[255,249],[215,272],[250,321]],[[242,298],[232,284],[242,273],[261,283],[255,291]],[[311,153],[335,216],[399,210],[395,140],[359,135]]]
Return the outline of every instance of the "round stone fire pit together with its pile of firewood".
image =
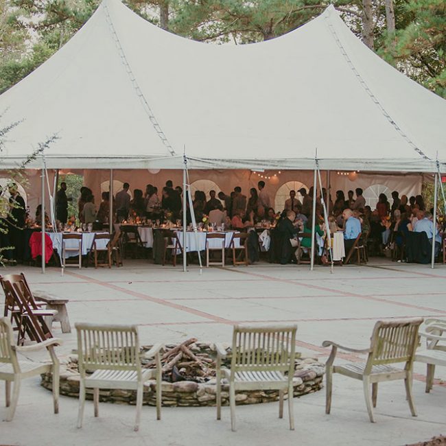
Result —
[[[142,347],[148,351],[151,346]],[[215,406],[215,347],[209,342],[191,338],[181,344],[167,344],[161,364],[163,367],[163,406]],[[60,394],[79,397],[78,357],[71,355],[60,362]],[[224,366],[231,364],[231,353]],[[144,367],[154,366],[151,360],[143,360]],[[318,360],[301,357],[296,353],[294,373],[294,397],[301,397],[322,388],[325,367]],[[42,386],[52,389],[52,375],[42,375]],[[86,389],[87,399],[93,399],[93,390]],[[155,383],[145,383],[143,404],[155,406]],[[100,401],[134,404],[133,390],[99,390]],[[268,403],[279,399],[277,390],[251,390],[237,392],[237,404]],[[222,404],[228,406],[228,384],[222,384]]]

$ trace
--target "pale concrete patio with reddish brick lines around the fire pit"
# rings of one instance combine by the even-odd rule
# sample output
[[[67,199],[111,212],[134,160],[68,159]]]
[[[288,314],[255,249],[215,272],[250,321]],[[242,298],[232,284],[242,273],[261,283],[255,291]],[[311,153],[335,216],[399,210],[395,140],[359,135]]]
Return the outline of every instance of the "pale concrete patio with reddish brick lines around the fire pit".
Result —
[[[325,339],[351,347],[367,347],[379,318],[411,316],[446,318],[446,268],[401,263],[335,268],[307,266],[232,266],[204,269],[154,266],[126,261],[112,270],[5,268],[23,270],[34,289],[70,299],[71,323],[76,321],[137,323],[141,340],[178,342],[231,340],[234,322],[295,321],[298,350],[325,361]],[[3,301],[0,301],[3,305]],[[64,340],[60,355],[75,348],[75,333]],[[296,430],[277,418],[277,403],[237,407],[237,432],[231,432],[228,408],[215,421],[213,408],[163,408],[161,421],[154,408],[144,407],[141,429],[132,431],[134,408],[103,403],[100,416],[86,403],[84,427],[75,427],[78,401],[61,397],[60,414],[52,414],[51,393],[39,379],[23,383],[14,421],[0,423],[0,444],[43,445],[405,445],[446,433],[446,386],[436,382],[425,394],[425,367],[416,365],[414,399],[419,416],[412,418],[403,382],[382,384],[377,423],[368,421],[362,384],[334,377],[331,415],[324,410],[325,392],[294,400]],[[446,368],[436,378],[446,381]],[[4,398],[1,386],[0,399]],[[5,414],[0,407],[0,418]]]

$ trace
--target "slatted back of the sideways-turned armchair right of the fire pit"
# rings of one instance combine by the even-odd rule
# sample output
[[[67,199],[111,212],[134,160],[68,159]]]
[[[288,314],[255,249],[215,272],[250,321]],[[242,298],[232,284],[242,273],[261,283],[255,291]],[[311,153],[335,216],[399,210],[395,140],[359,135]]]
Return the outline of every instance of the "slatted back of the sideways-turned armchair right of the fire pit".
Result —
[[[422,322],[423,318],[379,320],[373,329],[365,373],[374,365],[412,362]]]

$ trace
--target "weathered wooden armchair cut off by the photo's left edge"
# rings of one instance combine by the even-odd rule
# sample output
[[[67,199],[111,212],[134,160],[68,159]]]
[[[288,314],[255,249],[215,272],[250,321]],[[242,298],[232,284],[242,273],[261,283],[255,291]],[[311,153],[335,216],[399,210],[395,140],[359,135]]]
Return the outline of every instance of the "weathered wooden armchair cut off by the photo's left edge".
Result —
[[[62,344],[60,339],[51,338],[25,347],[16,346],[14,345],[10,320],[0,318],[0,379],[5,381],[6,407],[9,408],[6,421],[12,421],[14,417],[22,379],[38,376],[42,373],[53,374],[54,413],[59,412],[59,360],[54,347],[60,344]],[[51,357],[50,363],[23,361],[17,358],[17,353],[26,354],[30,351],[45,348]],[[11,383],[14,383],[12,398]],[[23,426],[26,426],[26,423],[23,423]]]

